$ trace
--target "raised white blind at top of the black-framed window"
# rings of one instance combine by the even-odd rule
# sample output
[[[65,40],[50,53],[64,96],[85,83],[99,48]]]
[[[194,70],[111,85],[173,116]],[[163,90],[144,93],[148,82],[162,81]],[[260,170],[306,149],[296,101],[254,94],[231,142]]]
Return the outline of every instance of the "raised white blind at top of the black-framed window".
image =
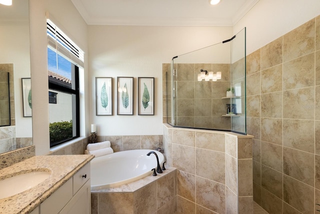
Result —
[[[54,23],[46,20],[48,48],[68,59],[74,65],[84,67],[84,53]]]

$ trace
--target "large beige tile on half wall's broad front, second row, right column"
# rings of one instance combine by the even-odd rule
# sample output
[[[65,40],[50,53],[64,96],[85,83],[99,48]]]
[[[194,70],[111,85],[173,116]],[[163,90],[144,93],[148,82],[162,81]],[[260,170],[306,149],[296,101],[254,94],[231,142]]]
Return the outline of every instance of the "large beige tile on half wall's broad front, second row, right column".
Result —
[[[206,179],[224,183],[224,153],[206,149],[195,150],[195,173]]]

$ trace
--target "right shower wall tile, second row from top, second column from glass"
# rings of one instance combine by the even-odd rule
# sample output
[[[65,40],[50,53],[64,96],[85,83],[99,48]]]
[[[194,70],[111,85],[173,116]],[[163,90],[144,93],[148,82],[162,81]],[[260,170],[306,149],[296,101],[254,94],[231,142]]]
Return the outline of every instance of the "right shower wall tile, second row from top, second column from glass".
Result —
[[[282,91],[282,64],[261,71],[261,93]]]

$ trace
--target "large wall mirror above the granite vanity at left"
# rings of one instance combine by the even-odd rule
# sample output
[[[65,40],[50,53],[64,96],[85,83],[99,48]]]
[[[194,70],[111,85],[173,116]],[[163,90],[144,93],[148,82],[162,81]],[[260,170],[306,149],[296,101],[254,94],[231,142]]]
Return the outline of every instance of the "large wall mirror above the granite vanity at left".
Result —
[[[27,0],[12,0],[11,6],[0,4],[0,32],[0,76],[5,76],[7,73],[9,75],[10,105],[7,123],[0,125],[0,153],[3,153],[32,144],[31,111],[26,111],[28,97],[24,92],[27,91],[24,85],[29,85],[29,82],[23,81],[29,81],[30,78]],[[1,88],[0,98],[4,99],[6,95],[7,92]],[[5,111],[5,108],[7,106],[0,104],[0,112]]]

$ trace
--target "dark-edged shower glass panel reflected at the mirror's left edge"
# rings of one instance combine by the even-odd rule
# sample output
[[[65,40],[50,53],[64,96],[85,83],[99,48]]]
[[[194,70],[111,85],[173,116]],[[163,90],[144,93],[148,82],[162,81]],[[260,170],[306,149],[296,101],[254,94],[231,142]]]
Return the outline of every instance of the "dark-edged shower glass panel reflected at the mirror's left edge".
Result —
[[[0,126],[10,125],[9,72],[0,68]]]

